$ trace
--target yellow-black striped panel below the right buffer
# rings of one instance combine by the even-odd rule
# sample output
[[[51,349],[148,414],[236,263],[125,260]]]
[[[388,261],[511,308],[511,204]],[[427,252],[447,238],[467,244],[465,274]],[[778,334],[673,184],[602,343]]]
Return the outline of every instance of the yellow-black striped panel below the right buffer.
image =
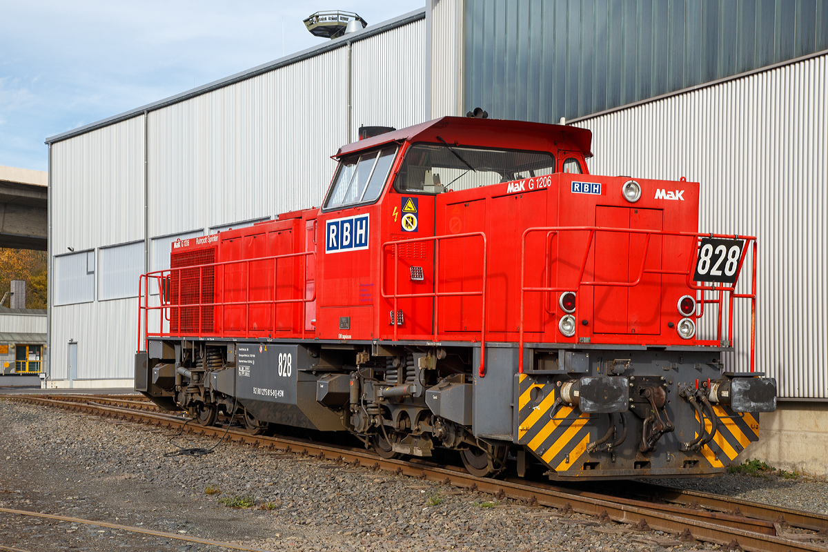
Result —
[[[710,443],[701,448],[701,454],[714,468],[723,468],[752,441],[759,439],[759,424],[757,417],[749,413],[736,414],[721,406],[714,406],[713,412],[717,422],[716,434]],[[696,414],[696,424],[698,423],[699,415]],[[705,432],[710,434],[712,430],[712,422],[705,417]],[[694,436],[698,435],[696,432]]]

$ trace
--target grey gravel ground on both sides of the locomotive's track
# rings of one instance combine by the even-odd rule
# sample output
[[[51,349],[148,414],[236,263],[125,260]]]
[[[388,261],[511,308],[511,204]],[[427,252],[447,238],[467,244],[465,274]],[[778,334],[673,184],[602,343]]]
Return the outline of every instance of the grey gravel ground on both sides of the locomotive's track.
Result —
[[[718,550],[660,531],[501,502],[367,468],[221,444],[165,457],[175,431],[0,401],[0,505],[265,550]],[[176,444],[211,448],[215,439]],[[671,482],[826,511],[824,480],[728,475]],[[208,494],[214,492],[213,494]],[[224,506],[247,499],[250,508]],[[262,506],[265,509],[262,509]],[[123,530],[0,513],[0,544],[22,550],[223,550]]]

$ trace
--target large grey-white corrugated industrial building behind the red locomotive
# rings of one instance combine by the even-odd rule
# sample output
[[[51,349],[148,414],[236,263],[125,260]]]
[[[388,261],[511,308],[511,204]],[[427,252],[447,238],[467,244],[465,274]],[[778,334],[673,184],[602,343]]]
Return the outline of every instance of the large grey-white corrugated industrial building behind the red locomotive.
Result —
[[[826,65],[825,0],[428,0],[51,137],[47,385],[132,385],[138,275],[172,241],[320,204],[361,124],[479,106],[590,128],[591,172],[699,181],[701,229],[758,236],[756,363],[780,396],[759,451],[826,471]]]

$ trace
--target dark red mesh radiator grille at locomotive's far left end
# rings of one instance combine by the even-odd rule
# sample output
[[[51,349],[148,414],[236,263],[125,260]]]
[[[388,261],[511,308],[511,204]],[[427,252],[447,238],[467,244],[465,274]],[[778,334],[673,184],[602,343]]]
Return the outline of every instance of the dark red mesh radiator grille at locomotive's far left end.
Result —
[[[204,304],[215,302],[215,266],[201,265],[215,262],[215,248],[173,253],[170,261],[170,302],[174,306],[170,314],[171,334],[199,334],[199,329],[202,334],[212,333],[214,306]],[[176,268],[183,270],[177,271]],[[175,308],[175,305],[180,306]]]

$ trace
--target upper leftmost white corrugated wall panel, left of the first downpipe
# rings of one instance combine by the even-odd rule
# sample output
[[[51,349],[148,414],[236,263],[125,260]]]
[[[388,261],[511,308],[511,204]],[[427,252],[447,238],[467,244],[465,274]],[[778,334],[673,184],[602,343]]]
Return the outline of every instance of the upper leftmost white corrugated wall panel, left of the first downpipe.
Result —
[[[143,239],[143,117],[53,144],[49,193],[52,252]]]

